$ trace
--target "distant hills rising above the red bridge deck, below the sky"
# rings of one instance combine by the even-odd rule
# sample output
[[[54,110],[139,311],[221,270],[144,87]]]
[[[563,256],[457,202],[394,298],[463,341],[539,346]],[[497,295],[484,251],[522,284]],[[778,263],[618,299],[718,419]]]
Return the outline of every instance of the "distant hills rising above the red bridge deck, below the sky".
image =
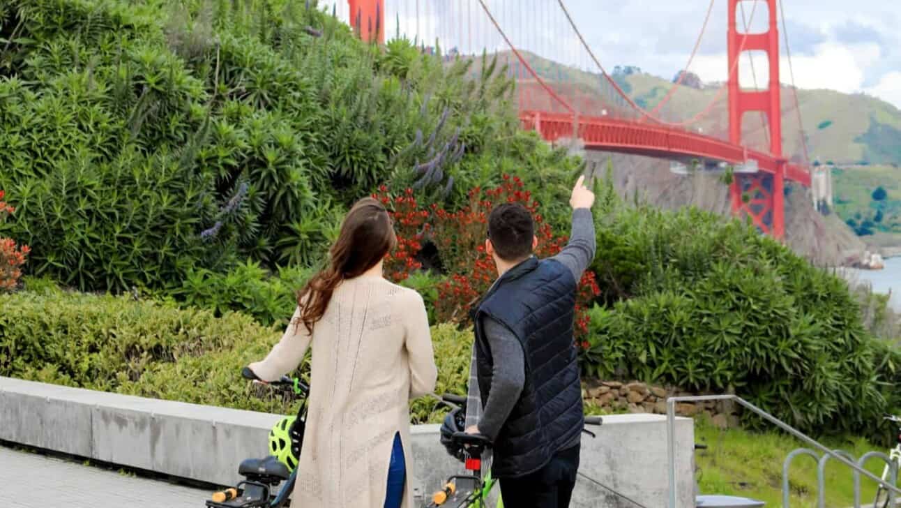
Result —
[[[624,106],[617,104],[614,97],[608,97],[609,91],[601,91],[600,74],[574,69],[529,52],[522,54],[542,79],[551,82],[555,88],[562,84],[565,90],[569,90],[565,92],[567,97],[571,97],[574,88],[578,89],[576,102],[580,109],[616,109]],[[518,62],[509,53],[499,53],[499,59],[501,63],[508,62],[512,72],[518,69]],[[649,109],[660,102],[671,86],[667,79],[642,73],[636,68],[621,69],[620,73],[614,73],[614,79],[633,101]],[[694,85],[697,86],[697,83]],[[542,106],[552,106],[550,97],[540,91],[537,83],[526,80],[521,88],[532,90],[532,101],[547,103]],[[680,86],[661,109],[661,115],[669,121],[681,121],[696,115],[716,97],[719,88],[718,83],[704,84],[700,89]],[[864,94],[843,94],[825,89],[798,89],[797,95],[811,160],[837,165],[901,164],[901,110],[895,106]],[[705,133],[727,135],[726,101],[726,94],[722,93],[709,117],[692,127],[700,128]],[[782,105],[783,152],[798,158],[803,148],[791,88],[783,87]],[[769,143],[760,125],[760,116],[749,114],[743,120],[742,130],[749,145],[766,148]]]

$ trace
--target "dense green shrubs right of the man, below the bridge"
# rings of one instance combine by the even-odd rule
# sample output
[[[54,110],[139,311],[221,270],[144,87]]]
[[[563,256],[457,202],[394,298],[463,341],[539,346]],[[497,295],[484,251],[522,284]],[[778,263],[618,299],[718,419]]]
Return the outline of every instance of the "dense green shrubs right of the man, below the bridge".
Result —
[[[597,245],[606,306],[591,311],[589,374],[734,389],[818,432],[874,429],[896,402],[847,283],[752,226],[620,204]]]

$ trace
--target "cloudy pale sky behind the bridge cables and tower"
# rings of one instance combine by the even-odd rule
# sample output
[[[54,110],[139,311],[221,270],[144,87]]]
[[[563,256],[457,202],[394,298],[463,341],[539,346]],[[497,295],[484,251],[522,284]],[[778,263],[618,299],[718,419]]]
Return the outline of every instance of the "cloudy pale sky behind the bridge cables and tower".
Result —
[[[518,48],[596,71],[557,0],[483,1]],[[901,107],[901,0],[782,1],[798,87],[866,92]],[[329,2],[337,2],[339,14],[347,15],[346,0]],[[705,81],[723,81],[728,74],[727,4],[726,0],[713,2],[705,36],[689,69]],[[634,65],[670,79],[685,67],[710,0],[563,3],[608,70]],[[764,31],[766,3],[744,0],[742,5],[751,32]],[[742,23],[741,11],[737,18]],[[444,47],[456,45],[464,52],[506,48],[479,0],[386,0],[386,24],[389,36],[399,31],[412,38],[418,33],[420,40],[437,38]],[[783,41],[781,80],[789,83]],[[753,65],[762,85],[768,79],[764,56],[757,54]],[[747,57],[742,58],[740,74],[742,85],[751,86]]]

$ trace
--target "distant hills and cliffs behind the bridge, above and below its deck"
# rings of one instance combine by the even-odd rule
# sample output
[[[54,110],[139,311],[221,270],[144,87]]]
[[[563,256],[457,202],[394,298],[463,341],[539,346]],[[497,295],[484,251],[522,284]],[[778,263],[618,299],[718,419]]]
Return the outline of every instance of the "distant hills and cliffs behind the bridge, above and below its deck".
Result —
[[[611,115],[628,111],[629,106],[614,96],[611,87],[600,86],[603,78],[599,74],[561,65],[528,52],[524,52],[523,56],[542,79],[580,111],[600,114],[606,110]],[[498,57],[499,65],[506,64],[512,74],[523,75],[523,69],[513,55],[500,53]],[[480,65],[481,60],[476,59],[472,71],[477,73]],[[614,79],[634,102],[649,110],[660,102],[671,86],[666,79],[642,73],[636,68],[618,69],[614,72]],[[669,103],[661,109],[664,119],[682,121],[690,118],[719,93],[720,84],[695,80],[692,85],[678,88]],[[562,110],[534,79],[520,79],[517,93],[526,107]],[[790,158],[799,159],[803,147],[798,135],[792,90],[783,88],[782,93],[783,152]],[[869,201],[857,199],[858,194],[866,194],[869,199],[869,192],[873,189],[863,189],[866,186],[856,189],[863,184],[862,181],[844,178],[845,173],[851,171],[891,169],[901,163],[901,111],[875,97],[862,94],[842,94],[831,90],[798,90],[797,93],[811,159],[854,168],[836,171],[838,215],[824,217],[817,213],[811,205],[809,190],[792,186],[794,192],[790,193],[786,207],[788,245],[821,265],[847,263],[859,258],[868,248],[884,250],[901,245],[901,235],[880,231],[877,236],[857,236],[845,224],[850,217],[869,217],[875,212],[867,211]],[[727,97],[722,93],[708,117],[691,127],[725,138],[728,135],[726,101]],[[769,149],[769,143],[760,129],[760,116],[746,115],[743,123],[744,139],[749,146]],[[573,148],[581,152],[578,143]],[[614,183],[626,197],[637,195],[639,199],[660,208],[679,208],[690,204],[722,215],[730,213],[728,192],[716,175],[699,174],[695,178],[685,178],[670,173],[669,162],[660,159],[604,152],[582,154],[598,167],[605,166],[607,161],[613,162]],[[867,167],[861,167],[860,163]],[[879,174],[884,176],[887,172],[883,170]],[[851,181],[850,187],[848,181]],[[869,180],[867,182],[872,184]],[[888,197],[894,199],[895,186],[887,185],[886,189]],[[885,215],[886,224],[895,218],[888,214],[888,210]]]

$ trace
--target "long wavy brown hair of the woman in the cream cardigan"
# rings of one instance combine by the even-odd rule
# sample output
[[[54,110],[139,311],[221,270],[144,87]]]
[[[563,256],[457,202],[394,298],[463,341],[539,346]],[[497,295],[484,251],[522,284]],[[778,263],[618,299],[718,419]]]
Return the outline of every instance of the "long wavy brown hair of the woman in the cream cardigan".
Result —
[[[341,223],[341,233],[329,250],[329,265],[316,273],[304,289],[297,291],[300,319],[306,331],[323,318],[332,293],[342,281],[363,274],[397,245],[394,225],[377,199],[364,198],[350,208]]]

